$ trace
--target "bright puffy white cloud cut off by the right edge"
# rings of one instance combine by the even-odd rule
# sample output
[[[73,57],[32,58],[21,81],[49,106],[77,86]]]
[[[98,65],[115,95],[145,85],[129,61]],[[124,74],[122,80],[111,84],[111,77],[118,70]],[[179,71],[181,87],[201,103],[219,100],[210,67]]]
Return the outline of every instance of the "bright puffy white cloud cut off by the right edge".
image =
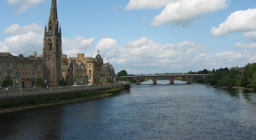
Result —
[[[256,8],[239,10],[231,13],[225,22],[218,27],[212,27],[211,33],[215,36],[227,35],[234,32],[248,32],[256,30]],[[255,33],[254,33],[255,34]]]

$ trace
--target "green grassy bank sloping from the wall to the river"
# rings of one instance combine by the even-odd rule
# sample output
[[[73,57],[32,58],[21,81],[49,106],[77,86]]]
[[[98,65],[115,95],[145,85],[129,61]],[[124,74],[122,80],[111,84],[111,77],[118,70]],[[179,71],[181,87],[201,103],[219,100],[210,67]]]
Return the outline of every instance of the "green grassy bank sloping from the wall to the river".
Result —
[[[54,104],[76,102],[81,100],[103,98],[123,90],[125,90],[125,87],[120,86],[118,88],[100,91],[100,92],[85,92],[85,93],[78,92],[77,94],[69,94],[62,97],[46,96],[39,99],[29,98],[29,99],[23,99],[20,101],[3,101],[3,102],[0,102],[0,113],[25,110],[25,109],[40,107],[40,106],[50,106]]]

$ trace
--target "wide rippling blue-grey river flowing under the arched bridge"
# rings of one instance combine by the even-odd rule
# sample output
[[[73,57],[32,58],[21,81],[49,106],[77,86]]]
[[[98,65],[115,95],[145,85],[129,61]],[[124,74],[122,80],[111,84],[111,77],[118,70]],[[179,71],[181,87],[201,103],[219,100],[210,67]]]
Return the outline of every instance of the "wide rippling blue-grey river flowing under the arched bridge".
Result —
[[[158,80],[130,92],[0,114],[0,139],[253,140],[256,93]]]

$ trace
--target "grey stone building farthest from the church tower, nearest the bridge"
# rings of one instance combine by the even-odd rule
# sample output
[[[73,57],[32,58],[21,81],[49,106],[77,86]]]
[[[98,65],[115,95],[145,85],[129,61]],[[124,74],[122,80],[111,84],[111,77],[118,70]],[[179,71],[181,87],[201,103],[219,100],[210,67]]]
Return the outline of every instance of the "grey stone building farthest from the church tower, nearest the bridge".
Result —
[[[111,79],[112,83],[115,82],[115,69],[114,67],[109,63],[104,63],[103,64],[103,75],[105,78],[105,82],[108,81],[108,79]]]

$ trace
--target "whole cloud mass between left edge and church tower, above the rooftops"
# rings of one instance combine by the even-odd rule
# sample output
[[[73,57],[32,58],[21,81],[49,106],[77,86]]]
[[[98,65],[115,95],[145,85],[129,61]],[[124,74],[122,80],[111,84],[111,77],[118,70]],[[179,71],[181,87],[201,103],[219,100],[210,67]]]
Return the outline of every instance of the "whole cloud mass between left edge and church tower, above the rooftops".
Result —
[[[42,54],[43,50],[43,27],[35,23],[21,26],[13,24],[7,27],[4,34],[14,34],[0,42],[2,51],[9,51],[13,55],[23,54],[29,56],[34,51]]]

